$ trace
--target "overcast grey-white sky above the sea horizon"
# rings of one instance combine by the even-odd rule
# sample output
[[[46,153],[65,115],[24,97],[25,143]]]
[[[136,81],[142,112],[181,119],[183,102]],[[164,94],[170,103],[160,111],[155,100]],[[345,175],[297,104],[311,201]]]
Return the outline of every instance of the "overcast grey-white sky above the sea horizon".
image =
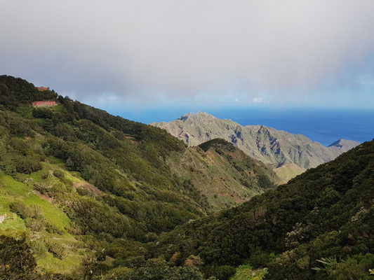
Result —
[[[0,0],[0,73],[95,106],[374,109],[374,1]]]

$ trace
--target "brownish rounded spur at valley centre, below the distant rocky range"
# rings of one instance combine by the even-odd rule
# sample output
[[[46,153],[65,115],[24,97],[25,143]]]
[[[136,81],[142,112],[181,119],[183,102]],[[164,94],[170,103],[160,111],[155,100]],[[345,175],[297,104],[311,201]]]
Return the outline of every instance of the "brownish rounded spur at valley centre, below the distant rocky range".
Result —
[[[223,139],[173,153],[168,163],[171,172],[189,178],[213,211],[241,204],[279,183],[269,167]]]

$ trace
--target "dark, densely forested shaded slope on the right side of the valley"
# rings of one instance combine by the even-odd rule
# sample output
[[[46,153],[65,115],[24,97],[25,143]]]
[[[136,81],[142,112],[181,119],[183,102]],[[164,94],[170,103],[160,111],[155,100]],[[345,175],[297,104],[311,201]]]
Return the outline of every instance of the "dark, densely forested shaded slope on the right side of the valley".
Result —
[[[155,250],[219,279],[239,265],[233,279],[373,279],[374,139],[239,207],[162,235]]]

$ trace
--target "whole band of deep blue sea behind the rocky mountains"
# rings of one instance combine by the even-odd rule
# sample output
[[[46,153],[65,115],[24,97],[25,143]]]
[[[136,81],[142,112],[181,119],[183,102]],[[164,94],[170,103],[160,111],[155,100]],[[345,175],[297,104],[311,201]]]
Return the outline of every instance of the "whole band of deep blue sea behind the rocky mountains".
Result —
[[[141,123],[171,121],[184,113],[206,111],[217,118],[234,120],[241,125],[266,125],[276,130],[303,134],[328,146],[338,139],[370,141],[374,138],[374,109],[279,109],[279,108],[186,108],[173,107],[142,110],[110,110]]]

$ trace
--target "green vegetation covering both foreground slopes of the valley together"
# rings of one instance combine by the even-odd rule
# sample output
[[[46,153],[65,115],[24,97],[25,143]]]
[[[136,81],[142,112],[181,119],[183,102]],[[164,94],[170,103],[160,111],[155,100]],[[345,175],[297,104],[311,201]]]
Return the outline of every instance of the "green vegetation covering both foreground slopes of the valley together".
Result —
[[[274,189],[221,139],[9,76],[0,101],[0,279],[374,279],[374,140]]]

